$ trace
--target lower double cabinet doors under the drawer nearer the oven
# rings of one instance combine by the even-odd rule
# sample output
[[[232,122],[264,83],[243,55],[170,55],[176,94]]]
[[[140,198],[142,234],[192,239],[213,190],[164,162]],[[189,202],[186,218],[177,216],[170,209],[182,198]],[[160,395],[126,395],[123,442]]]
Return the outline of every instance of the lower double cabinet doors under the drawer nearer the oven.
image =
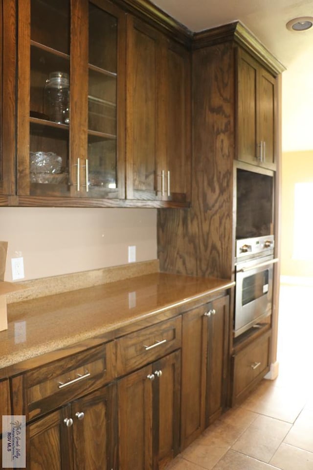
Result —
[[[118,380],[119,469],[158,470],[179,452],[180,351]]]

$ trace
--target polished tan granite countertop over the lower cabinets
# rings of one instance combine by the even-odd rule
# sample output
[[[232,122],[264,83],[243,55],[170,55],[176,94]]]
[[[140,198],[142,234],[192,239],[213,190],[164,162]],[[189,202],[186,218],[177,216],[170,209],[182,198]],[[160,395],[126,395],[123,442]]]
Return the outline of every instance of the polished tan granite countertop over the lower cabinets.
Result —
[[[89,338],[110,339],[110,333],[232,285],[157,272],[10,304],[8,329],[0,332],[2,376],[14,364]]]

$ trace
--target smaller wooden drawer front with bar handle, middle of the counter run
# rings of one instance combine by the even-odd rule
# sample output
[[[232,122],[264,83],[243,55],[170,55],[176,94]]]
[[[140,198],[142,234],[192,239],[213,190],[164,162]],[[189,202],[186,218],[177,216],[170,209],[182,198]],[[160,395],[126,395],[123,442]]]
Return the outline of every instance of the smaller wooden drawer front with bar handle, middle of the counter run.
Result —
[[[181,347],[181,316],[120,338],[116,342],[117,376],[123,376]]]

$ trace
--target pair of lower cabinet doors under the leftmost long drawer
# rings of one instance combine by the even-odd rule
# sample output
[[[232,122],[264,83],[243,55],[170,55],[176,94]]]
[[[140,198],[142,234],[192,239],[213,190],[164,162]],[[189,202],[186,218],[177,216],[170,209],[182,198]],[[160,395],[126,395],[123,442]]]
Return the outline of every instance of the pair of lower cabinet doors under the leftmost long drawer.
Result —
[[[27,470],[116,468],[115,384],[30,423]]]

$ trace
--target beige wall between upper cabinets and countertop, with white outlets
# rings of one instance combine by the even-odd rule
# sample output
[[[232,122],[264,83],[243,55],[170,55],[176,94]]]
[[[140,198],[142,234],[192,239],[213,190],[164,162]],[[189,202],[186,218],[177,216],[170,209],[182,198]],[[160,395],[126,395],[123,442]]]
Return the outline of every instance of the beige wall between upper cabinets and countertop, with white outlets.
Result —
[[[155,209],[0,208],[0,240],[11,258],[21,252],[25,280],[156,259]]]

